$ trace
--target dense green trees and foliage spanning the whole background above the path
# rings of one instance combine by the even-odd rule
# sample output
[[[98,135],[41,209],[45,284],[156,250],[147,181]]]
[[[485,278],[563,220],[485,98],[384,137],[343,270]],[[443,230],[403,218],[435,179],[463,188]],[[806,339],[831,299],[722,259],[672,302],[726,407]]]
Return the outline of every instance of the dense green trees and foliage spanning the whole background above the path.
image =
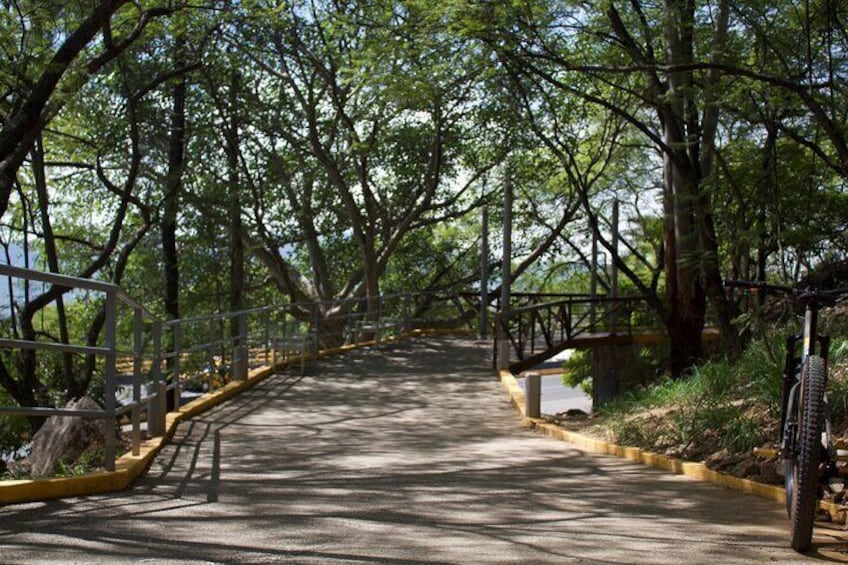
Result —
[[[740,353],[723,276],[845,260],[846,18],[833,0],[0,0],[0,245],[163,318],[378,308],[474,289],[482,211],[496,232],[510,186],[515,288],[586,291],[595,241],[601,288],[648,297],[676,378],[708,318]],[[103,338],[97,300],[5,301],[5,335]],[[0,361],[21,405],[97,381],[72,356]]]

